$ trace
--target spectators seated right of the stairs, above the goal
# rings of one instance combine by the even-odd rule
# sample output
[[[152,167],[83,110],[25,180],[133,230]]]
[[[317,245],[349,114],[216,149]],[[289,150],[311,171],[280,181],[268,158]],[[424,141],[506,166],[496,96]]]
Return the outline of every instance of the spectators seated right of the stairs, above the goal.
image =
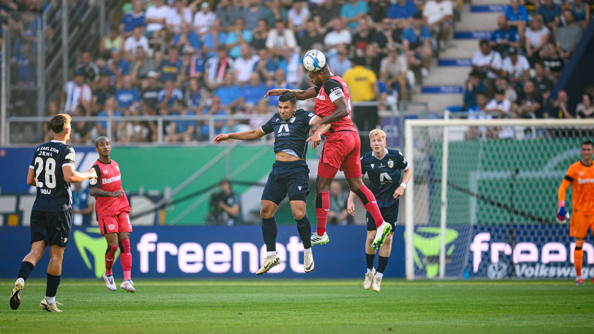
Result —
[[[479,42],[465,87],[463,110],[469,118],[594,117],[592,85],[584,87],[579,102],[570,103],[564,90],[551,96],[590,22],[589,6],[582,0],[567,2],[563,10],[554,0],[533,3],[536,11],[529,13],[511,0],[498,17],[498,29]]]

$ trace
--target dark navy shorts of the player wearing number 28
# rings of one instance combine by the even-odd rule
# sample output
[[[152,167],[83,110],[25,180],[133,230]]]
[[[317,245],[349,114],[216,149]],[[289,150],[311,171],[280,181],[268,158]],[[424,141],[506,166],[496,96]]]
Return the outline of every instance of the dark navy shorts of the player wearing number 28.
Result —
[[[61,212],[31,211],[31,244],[45,240],[48,246],[66,247],[72,227],[72,209]]]

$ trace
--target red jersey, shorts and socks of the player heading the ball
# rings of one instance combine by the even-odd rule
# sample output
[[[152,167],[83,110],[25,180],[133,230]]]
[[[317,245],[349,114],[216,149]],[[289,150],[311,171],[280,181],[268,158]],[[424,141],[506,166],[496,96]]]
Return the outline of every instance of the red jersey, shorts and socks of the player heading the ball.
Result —
[[[346,178],[361,177],[361,139],[359,133],[350,119],[350,94],[349,87],[338,75],[332,75],[322,87],[315,87],[314,112],[320,117],[326,117],[336,111],[334,101],[345,97],[346,108],[349,114],[331,122],[330,130],[326,136],[326,142],[318,162],[318,175],[327,179],[334,179],[340,170],[345,172]],[[365,207],[375,220],[375,225],[380,226],[384,219],[381,216],[380,208],[377,206],[375,196],[369,189],[362,185],[355,194],[359,197],[361,204]],[[323,236],[326,232],[326,220],[330,209],[330,193],[315,194],[315,216],[318,220],[316,232]]]

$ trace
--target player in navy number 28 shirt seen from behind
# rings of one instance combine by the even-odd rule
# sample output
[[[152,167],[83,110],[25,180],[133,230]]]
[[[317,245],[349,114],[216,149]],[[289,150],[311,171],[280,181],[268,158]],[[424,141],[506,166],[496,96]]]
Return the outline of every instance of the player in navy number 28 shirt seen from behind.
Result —
[[[37,146],[27,184],[37,187],[37,197],[31,210],[31,251],[23,259],[10,295],[10,307],[21,304],[25,280],[49,246],[48,283],[45,298],[39,306],[48,312],[61,312],[56,304],[56,291],[62,275],[62,258],[72,226],[72,193],[70,182],[97,177],[93,168],[84,173],[74,170],[74,149],[66,144],[70,138],[70,115],[58,114],[49,121],[53,140]]]

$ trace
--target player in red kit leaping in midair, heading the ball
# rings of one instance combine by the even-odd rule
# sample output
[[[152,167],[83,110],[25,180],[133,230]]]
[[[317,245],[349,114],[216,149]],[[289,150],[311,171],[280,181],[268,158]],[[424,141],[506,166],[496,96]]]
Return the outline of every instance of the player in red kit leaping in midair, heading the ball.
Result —
[[[330,210],[330,184],[340,170],[345,172],[349,188],[355,193],[375,221],[377,235],[371,248],[377,250],[384,244],[391,231],[389,223],[381,217],[375,197],[361,182],[361,139],[350,120],[350,95],[344,80],[330,71],[328,64],[316,72],[309,71],[309,80],[315,85],[307,90],[272,89],[266,96],[292,93],[299,100],[315,97],[315,114],[323,117],[319,127],[307,140],[312,140],[312,149],[326,136],[324,149],[318,163],[318,178],[315,180],[315,216],[317,231],[311,236],[311,244],[325,244],[330,241],[326,233],[326,220]]]

